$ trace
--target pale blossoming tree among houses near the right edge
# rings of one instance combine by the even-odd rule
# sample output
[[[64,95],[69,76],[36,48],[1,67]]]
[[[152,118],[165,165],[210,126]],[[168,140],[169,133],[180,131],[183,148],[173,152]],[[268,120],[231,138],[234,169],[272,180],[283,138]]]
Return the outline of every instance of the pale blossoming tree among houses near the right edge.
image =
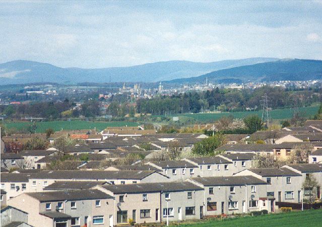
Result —
[[[307,163],[308,155],[314,150],[311,143],[301,143],[300,145],[294,146],[291,155],[289,157],[290,163]]]

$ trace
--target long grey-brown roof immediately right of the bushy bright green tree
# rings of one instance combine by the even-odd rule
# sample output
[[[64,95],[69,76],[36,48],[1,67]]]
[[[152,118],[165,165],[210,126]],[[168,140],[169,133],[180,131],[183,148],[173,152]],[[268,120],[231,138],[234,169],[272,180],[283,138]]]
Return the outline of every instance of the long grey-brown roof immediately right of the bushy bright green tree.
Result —
[[[215,149],[215,151],[273,152],[273,146],[270,144],[225,144]]]

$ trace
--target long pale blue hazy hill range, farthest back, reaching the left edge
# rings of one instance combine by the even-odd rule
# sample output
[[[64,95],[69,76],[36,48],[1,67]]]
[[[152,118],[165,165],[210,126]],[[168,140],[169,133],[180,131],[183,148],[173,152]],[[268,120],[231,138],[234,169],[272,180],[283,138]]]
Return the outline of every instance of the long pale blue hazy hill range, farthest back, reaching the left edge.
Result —
[[[195,77],[217,70],[277,60],[250,58],[211,63],[169,61],[103,69],[59,68],[50,64],[19,60],[0,64],[0,84],[157,82]]]

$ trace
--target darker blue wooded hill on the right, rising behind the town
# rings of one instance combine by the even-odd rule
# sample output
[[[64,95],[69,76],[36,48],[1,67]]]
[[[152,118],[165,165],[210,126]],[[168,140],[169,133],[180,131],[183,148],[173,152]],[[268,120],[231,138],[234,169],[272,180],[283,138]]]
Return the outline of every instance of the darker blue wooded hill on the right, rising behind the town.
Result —
[[[322,61],[285,59],[249,66],[240,66],[190,77],[167,81],[168,83],[198,83],[222,81],[280,81],[322,79]]]

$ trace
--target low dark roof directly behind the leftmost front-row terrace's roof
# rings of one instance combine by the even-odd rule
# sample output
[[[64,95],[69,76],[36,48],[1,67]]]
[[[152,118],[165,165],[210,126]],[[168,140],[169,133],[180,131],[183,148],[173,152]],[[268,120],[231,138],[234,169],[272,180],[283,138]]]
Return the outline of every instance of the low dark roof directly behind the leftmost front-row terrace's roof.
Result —
[[[55,183],[45,187],[43,190],[86,190],[104,183],[104,181],[56,181]]]

